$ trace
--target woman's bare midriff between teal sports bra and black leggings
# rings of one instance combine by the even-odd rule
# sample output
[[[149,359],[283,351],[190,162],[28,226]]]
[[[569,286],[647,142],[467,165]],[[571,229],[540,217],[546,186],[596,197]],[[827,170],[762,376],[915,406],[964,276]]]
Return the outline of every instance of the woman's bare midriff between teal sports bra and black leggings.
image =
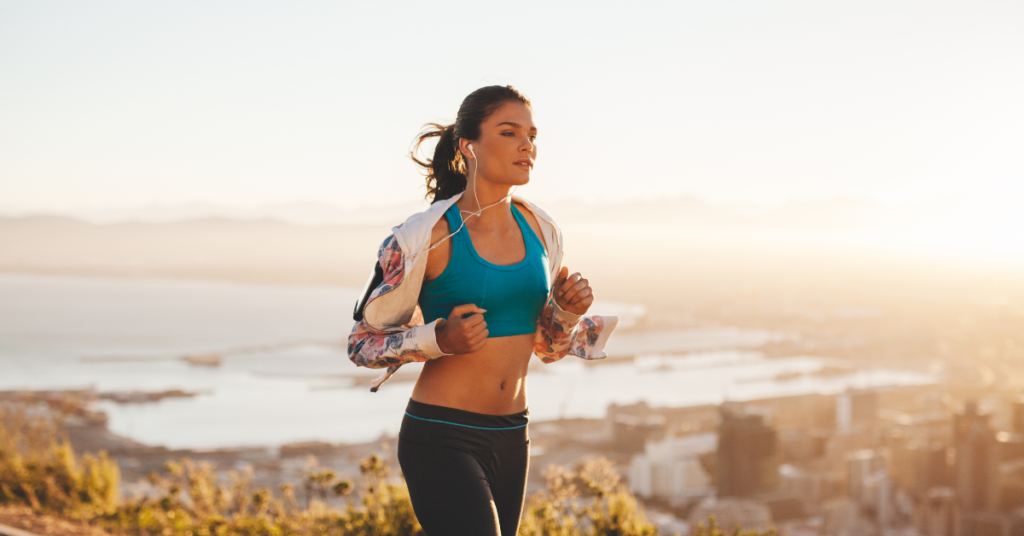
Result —
[[[413,400],[487,415],[526,409],[526,370],[534,334],[488,338],[472,354],[442,356],[423,364]]]

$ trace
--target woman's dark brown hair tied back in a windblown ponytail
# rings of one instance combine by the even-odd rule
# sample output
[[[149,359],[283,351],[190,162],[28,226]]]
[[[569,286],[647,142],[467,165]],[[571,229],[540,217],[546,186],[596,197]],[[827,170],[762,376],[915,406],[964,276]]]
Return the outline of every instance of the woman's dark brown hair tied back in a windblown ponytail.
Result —
[[[431,204],[466,191],[466,161],[459,151],[459,138],[478,139],[480,124],[508,101],[530,106],[529,99],[512,86],[481,87],[463,99],[455,123],[447,126],[428,123],[420,132],[410,157],[424,168],[427,176],[426,197],[432,198]],[[431,137],[438,138],[434,157],[426,161],[416,158],[420,146]]]

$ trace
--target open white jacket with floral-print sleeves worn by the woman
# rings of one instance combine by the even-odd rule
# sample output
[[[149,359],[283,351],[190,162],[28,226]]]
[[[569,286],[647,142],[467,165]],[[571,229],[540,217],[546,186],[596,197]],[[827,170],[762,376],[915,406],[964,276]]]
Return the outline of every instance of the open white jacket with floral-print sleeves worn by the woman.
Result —
[[[377,251],[384,281],[370,294],[362,320],[348,336],[348,357],[352,363],[386,369],[371,382],[371,391],[376,391],[406,363],[446,355],[437,346],[434,332],[437,321],[424,324],[418,301],[430,232],[460,197],[461,194],[438,201],[414,214],[392,229]],[[515,196],[512,200],[525,205],[537,217],[548,249],[550,280],[555,281],[561,269],[561,231],[540,207]],[[611,316],[582,317],[568,313],[555,303],[553,289],[549,289],[548,300],[537,321],[534,354],[544,363],[554,363],[567,355],[588,360],[605,358],[604,345],[617,322]]]

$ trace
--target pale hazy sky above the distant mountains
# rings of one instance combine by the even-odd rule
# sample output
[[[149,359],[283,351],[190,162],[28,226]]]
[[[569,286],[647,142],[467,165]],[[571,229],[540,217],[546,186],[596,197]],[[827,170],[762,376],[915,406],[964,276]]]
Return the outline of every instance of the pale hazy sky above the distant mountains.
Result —
[[[0,208],[423,195],[511,83],[537,198],[1024,202],[1024,2],[0,1]]]

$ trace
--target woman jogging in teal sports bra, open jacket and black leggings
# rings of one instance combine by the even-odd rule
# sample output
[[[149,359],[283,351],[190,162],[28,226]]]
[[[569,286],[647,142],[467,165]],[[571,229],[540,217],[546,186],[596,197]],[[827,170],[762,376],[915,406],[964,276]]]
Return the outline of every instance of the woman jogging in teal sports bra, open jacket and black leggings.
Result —
[[[433,158],[416,150],[437,138]],[[529,182],[537,126],[511,86],[477,89],[456,122],[413,150],[427,210],[394,228],[348,338],[359,366],[425,362],[398,437],[398,462],[430,536],[514,536],[529,468],[526,371],[566,355],[606,357],[615,317],[585,317],[590,283],[561,265],[554,220],[512,190]]]

